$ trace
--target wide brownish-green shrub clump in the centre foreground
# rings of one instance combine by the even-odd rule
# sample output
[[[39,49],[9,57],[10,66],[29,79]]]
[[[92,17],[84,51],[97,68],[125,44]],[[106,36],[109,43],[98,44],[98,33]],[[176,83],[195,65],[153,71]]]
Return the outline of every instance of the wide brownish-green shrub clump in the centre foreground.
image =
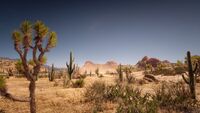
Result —
[[[104,82],[95,82],[85,95],[87,100],[94,101],[95,111],[102,111],[107,101],[118,104],[117,113],[155,113],[157,110],[157,103],[150,99],[150,94],[142,95],[139,89],[127,84],[106,86]]]

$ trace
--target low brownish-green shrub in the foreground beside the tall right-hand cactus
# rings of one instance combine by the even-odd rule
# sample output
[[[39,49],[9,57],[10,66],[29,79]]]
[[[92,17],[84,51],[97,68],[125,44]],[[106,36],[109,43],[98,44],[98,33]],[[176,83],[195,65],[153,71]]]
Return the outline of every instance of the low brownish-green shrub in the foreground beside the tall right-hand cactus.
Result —
[[[191,112],[199,107],[194,100],[191,100],[190,90],[182,82],[163,83],[155,90],[153,100],[157,101],[160,108],[177,112]]]

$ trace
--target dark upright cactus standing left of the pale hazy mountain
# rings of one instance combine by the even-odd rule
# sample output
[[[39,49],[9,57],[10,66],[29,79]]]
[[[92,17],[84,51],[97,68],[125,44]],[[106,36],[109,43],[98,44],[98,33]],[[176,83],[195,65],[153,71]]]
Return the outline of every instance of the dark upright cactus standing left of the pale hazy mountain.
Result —
[[[67,66],[67,74],[69,76],[69,79],[71,80],[72,79],[72,75],[75,71],[75,64],[74,64],[74,57],[72,55],[72,52],[70,51],[70,59],[69,59],[69,63],[67,62],[66,63],[66,66]]]

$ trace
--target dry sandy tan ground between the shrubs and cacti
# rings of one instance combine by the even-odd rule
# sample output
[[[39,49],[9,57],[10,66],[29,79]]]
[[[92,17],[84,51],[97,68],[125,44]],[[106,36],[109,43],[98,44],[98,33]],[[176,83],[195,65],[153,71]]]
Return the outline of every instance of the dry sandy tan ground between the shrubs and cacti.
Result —
[[[142,72],[135,72],[136,79],[142,79]],[[36,103],[38,113],[91,113],[92,104],[84,101],[85,89],[94,81],[105,81],[107,84],[115,83],[117,76],[104,75],[102,78],[96,76],[86,77],[83,88],[63,88],[63,80],[56,80],[58,83],[49,82],[47,78],[40,78],[36,86]],[[181,76],[161,76],[156,78],[159,81],[177,82],[182,80]],[[28,97],[29,82],[24,78],[9,78],[7,79],[8,92],[18,97]],[[136,87],[145,92],[153,92],[154,88],[159,83],[135,84]],[[197,95],[200,96],[200,84],[197,84]],[[114,113],[115,105],[108,105],[105,113]],[[0,110],[5,113],[29,113],[29,103],[13,102],[11,100],[0,97]]]

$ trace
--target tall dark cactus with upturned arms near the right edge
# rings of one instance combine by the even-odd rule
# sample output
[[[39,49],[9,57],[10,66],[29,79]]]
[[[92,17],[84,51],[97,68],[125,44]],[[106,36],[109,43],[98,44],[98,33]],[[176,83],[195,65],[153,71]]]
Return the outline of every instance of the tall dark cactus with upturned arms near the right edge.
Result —
[[[183,80],[189,85],[190,87],[190,93],[191,93],[191,98],[196,99],[196,89],[195,89],[195,81],[197,74],[197,68],[198,64],[195,64],[195,67],[192,67],[192,61],[191,61],[191,55],[190,51],[187,52],[187,64],[188,64],[188,73],[185,73],[189,78],[186,79],[185,76],[182,74]]]

